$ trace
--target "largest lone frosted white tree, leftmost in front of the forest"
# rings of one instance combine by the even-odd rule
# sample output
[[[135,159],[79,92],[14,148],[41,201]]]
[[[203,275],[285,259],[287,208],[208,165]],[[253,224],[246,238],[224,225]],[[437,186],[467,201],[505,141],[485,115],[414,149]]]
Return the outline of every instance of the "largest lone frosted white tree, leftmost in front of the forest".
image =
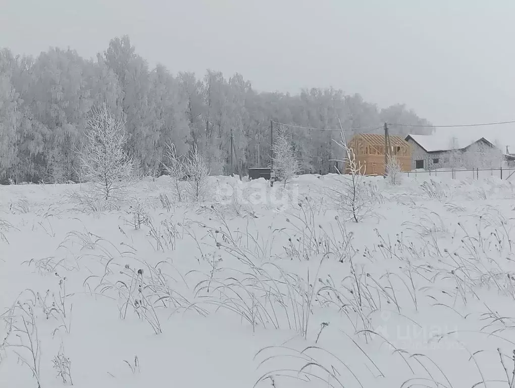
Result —
[[[134,160],[125,151],[125,122],[116,119],[107,104],[93,107],[77,150],[82,181],[92,182],[104,199],[121,194],[134,174]]]

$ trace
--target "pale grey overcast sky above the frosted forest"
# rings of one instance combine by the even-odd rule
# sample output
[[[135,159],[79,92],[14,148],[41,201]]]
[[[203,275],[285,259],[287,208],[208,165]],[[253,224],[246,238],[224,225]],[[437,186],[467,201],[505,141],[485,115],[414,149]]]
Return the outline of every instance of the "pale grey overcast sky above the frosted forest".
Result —
[[[0,46],[92,57],[128,34],[174,73],[333,86],[458,124],[515,119],[514,21],[513,0],[0,0]]]

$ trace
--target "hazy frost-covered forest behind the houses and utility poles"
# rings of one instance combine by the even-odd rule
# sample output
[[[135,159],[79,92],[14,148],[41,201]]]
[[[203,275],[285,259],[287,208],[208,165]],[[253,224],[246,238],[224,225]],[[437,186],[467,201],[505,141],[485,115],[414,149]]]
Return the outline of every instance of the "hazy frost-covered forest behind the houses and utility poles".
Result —
[[[350,75],[351,76],[351,75]],[[380,109],[336,89],[291,95],[256,92],[241,74],[208,70],[170,74],[150,69],[128,36],[112,39],[96,59],[49,48],[37,58],[0,51],[0,181],[77,181],[77,158],[88,112],[106,102],[126,121],[128,151],[142,174],[158,175],[165,145],[179,154],[196,144],[212,174],[270,162],[270,120],[312,128],[342,127],[349,136],[383,122],[431,125],[405,105]],[[304,171],[334,172],[338,131],[287,127]],[[431,127],[392,126],[391,134],[429,134]],[[231,135],[232,134],[232,135]],[[233,138],[234,167],[230,164]],[[235,171],[231,171],[235,170]]]

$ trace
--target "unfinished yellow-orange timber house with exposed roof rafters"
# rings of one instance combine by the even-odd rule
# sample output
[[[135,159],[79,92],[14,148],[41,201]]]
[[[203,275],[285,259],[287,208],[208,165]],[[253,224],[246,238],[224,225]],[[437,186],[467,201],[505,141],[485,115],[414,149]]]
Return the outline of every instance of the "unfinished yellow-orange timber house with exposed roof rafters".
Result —
[[[389,136],[391,154],[397,157],[402,171],[411,171],[411,147],[401,136]],[[384,175],[385,136],[383,134],[358,133],[349,141],[356,163],[361,164],[364,175]],[[388,148],[386,148],[388,150]],[[349,173],[349,166],[346,166]]]

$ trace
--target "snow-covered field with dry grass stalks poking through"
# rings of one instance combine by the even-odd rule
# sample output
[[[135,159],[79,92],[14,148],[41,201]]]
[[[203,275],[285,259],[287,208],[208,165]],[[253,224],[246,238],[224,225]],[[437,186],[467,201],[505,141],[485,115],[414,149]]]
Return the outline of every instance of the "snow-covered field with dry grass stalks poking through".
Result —
[[[513,387],[515,187],[431,178],[0,187],[0,386]]]

